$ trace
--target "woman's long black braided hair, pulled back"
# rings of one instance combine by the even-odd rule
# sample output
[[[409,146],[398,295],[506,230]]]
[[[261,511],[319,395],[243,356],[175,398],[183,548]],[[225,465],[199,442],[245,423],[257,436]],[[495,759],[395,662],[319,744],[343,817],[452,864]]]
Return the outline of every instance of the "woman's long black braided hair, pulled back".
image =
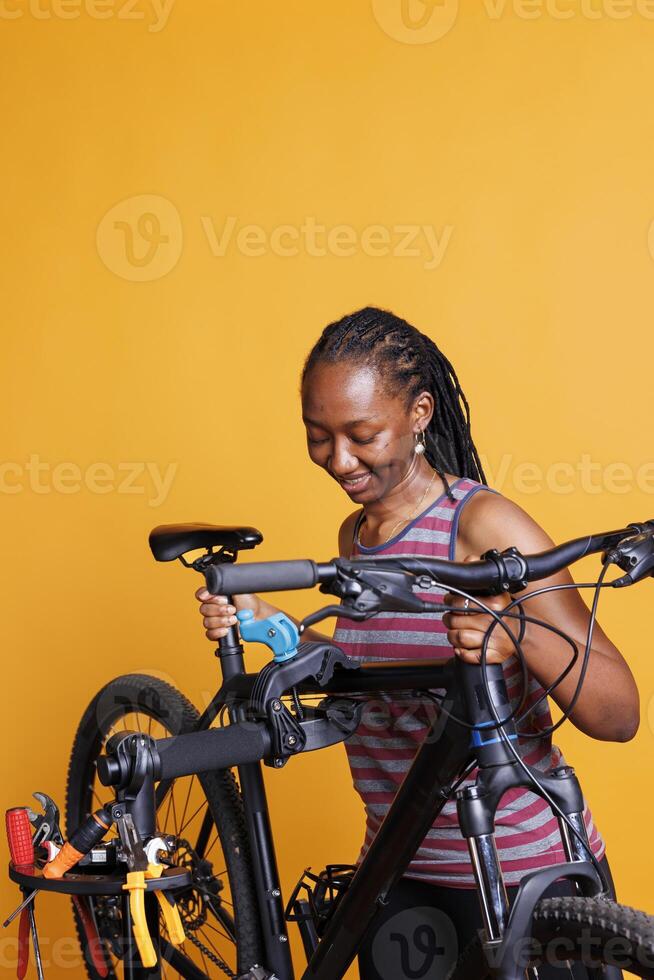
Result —
[[[422,391],[436,407],[425,429],[425,458],[454,499],[445,470],[485,483],[470,433],[470,408],[454,368],[425,334],[388,310],[367,306],[330,323],[310,351],[302,384],[317,364],[363,361],[376,369],[391,396],[406,393],[407,406]]]

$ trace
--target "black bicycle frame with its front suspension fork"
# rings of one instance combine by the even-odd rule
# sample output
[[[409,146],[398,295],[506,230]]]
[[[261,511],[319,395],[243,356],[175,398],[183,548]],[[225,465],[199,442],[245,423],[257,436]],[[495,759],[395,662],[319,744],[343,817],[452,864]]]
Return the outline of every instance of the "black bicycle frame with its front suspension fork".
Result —
[[[232,722],[242,720],[258,676],[245,673],[237,627],[232,627],[220,641],[216,655],[220,659],[224,683],[202,715],[199,730],[208,729],[225,707]],[[486,676],[495,711],[501,719],[507,718],[511,709],[501,664],[487,665]],[[299,694],[320,695],[346,696],[393,690],[438,690],[443,692],[448,711],[445,715],[435,712],[428,734],[327,924],[302,980],[336,980],[345,974],[377,911],[406,871],[434,820],[451,798],[454,785],[470,764],[479,768],[477,783],[458,791],[457,808],[461,830],[468,843],[488,942],[499,943],[507,927],[509,906],[493,837],[494,816],[501,796],[509,788],[528,786],[537,790],[516,763],[505,739],[499,735],[484,693],[482,668],[456,657],[429,663],[364,664],[358,670],[335,672],[324,685],[304,682],[298,686]],[[469,725],[475,726],[475,731],[454,718],[467,720]],[[504,731],[507,738],[517,738],[513,722],[509,721]],[[199,759],[197,771],[203,771]],[[274,973],[276,980],[294,980],[261,763],[241,765],[238,772],[256,880],[265,966]],[[582,816],[583,798],[574,771],[570,767],[560,767],[549,774],[534,773],[585,841],[581,843],[570,833],[568,825],[559,820],[567,861],[584,862],[586,876],[597,878],[592,867],[588,871],[586,863],[589,844]],[[159,793],[165,793],[166,788],[165,783],[160,784]],[[205,821],[207,826],[201,831],[201,838],[203,834],[208,838],[209,814]],[[581,877],[582,866],[577,866]],[[561,867],[562,870],[567,868],[566,873],[575,877],[569,867]],[[600,888],[601,884],[595,890]]]

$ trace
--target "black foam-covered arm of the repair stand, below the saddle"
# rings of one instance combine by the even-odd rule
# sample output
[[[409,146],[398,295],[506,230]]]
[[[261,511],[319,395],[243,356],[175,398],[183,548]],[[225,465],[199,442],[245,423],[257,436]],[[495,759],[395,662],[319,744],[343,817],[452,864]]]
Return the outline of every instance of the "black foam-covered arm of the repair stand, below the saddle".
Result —
[[[270,752],[270,736],[264,725],[240,721],[224,728],[160,738],[156,745],[160,766],[156,778],[177,779],[260,762]]]

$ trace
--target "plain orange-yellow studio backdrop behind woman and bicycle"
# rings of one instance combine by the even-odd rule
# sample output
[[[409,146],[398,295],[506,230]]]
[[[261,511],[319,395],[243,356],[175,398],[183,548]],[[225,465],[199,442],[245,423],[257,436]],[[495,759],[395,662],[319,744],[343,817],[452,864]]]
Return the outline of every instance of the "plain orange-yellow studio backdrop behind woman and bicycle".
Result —
[[[152,526],[245,522],[262,559],[335,553],[351,508],[308,461],[297,383],[347,311],[391,308],[439,343],[489,471],[508,465],[496,485],[555,539],[654,516],[651,470],[639,486],[604,469],[654,459],[648,5],[401,13],[400,0],[177,0],[162,22],[145,0],[3,0],[3,807],[34,789],[63,806],[78,717],[112,676],[157,672],[200,707],[217,686],[198,583],[153,562]],[[346,225],[354,254],[338,232],[309,254],[307,219]],[[263,245],[256,230],[238,244],[247,225]],[[286,225],[295,255],[269,238]],[[364,244],[380,225],[386,255]],[[447,239],[437,265],[424,238],[393,254],[404,225]],[[584,453],[599,489],[575,470],[560,492],[552,465]],[[41,492],[30,456],[47,464]],[[114,475],[103,493],[83,482],[98,462],[105,489]],[[120,489],[147,462],[173,467],[159,502],[145,476]],[[525,462],[541,467],[535,489],[516,475]],[[638,736],[601,744],[568,725],[558,739],[622,901],[650,911],[652,588],[600,607],[639,684]],[[267,782],[286,893],[305,865],[354,858],[362,814],[341,748]],[[8,912],[17,890],[0,899]],[[65,900],[42,899],[39,919],[46,949],[70,935]]]

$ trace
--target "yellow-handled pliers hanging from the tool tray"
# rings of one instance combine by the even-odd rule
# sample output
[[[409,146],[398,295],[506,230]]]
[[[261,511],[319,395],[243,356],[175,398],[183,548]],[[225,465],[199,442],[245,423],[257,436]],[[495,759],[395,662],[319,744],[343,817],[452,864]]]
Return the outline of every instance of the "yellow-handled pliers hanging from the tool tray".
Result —
[[[157,952],[154,948],[145,916],[146,880],[160,878],[164,866],[163,864],[148,861],[130,814],[126,813],[124,816],[119,817],[116,820],[116,827],[118,828],[121,842],[125,848],[127,866],[129,868],[127,881],[123,885],[123,889],[129,892],[132,931],[143,966],[151,968],[156,966]],[[159,908],[161,909],[166,929],[168,930],[168,938],[174,946],[179,946],[184,942],[186,936],[175,900],[168,892],[158,889],[155,891],[155,895],[157,896]]]

